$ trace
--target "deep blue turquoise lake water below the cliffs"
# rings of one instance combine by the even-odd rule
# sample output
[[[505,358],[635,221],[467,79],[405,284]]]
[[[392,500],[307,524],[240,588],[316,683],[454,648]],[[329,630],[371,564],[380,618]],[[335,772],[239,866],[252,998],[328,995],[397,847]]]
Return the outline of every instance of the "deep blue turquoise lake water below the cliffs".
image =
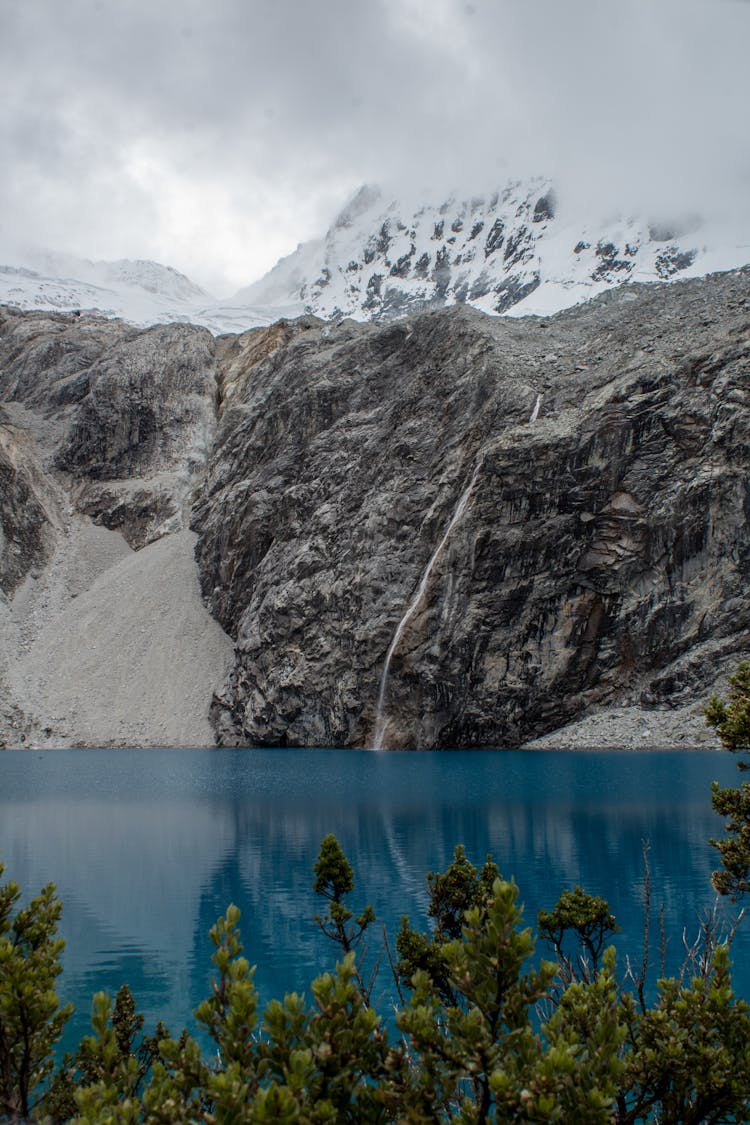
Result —
[[[89,1029],[93,992],[123,981],[148,1024],[161,1017],[177,1032],[207,994],[208,929],[229,902],[242,910],[262,999],[305,991],[333,964],[313,922],[313,864],[327,832],[354,867],[353,904],[371,902],[391,935],[403,914],[426,922],[425,875],[463,844],[473,862],[491,852],[515,878],[530,922],[564,888],[604,896],[618,948],[639,958],[645,839],[675,971],[684,928],[694,935],[714,900],[714,778],[738,783],[731,755],[2,752],[0,861],[27,896],[52,881],[63,899],[60,990],[76,1006],[69,1043]],[[749,954],[750,919],[733,955],[747,998]],[[388,984],[383,971],[383,1010]]]

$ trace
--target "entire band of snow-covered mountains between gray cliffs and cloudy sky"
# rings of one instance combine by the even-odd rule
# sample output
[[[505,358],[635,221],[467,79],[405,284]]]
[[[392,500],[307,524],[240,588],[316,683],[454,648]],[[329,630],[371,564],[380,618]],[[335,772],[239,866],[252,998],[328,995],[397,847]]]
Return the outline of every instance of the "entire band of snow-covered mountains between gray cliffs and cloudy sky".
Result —
[[[625,281],[699,277],[750,261],[750,227],[695,217],[672,230],[648,216],[581,219],[553,197],[542,178],[418,207],[364,186],[324,237],[226,300],[157,262],[46,252],[0,263],[0,303],[98,309],[137,326],[182,321],[220,334],[304,313],[387,320],[463,302],[495,315],[550,315]]]

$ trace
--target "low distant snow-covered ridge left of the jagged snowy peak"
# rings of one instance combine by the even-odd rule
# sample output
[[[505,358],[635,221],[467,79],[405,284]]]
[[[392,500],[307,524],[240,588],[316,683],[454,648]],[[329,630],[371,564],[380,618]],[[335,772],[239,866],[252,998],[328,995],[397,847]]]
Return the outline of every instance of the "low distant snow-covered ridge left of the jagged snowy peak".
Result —
[[[97,310],[129,324],[199,324],[215,334],[242,332],[272,324],[292,307],[251,307],[246,302],[220,302],[184,273],[147,260],[92,262],[51,251],[16,255],[15,264],[0,262],[0,304],[17,308],[60,312]]]

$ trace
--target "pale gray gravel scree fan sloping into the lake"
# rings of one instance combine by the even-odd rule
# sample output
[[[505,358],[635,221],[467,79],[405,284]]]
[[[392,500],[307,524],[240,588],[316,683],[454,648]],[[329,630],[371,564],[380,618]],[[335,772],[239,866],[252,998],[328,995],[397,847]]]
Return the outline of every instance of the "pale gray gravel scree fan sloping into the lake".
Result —
[[[198,588],[195,536],[132,551],[73,518],[51,565],[0,611],[7,746],[213,746],[232,642]]]

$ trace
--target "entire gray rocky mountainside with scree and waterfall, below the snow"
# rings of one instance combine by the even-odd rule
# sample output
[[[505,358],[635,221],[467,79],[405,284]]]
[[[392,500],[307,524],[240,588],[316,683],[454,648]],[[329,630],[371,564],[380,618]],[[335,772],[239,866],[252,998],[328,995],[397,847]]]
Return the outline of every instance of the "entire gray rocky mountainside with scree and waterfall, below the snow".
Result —
[[[0,309],[0,744],[711,740],[749,361],[750,269],[220,339]]]

